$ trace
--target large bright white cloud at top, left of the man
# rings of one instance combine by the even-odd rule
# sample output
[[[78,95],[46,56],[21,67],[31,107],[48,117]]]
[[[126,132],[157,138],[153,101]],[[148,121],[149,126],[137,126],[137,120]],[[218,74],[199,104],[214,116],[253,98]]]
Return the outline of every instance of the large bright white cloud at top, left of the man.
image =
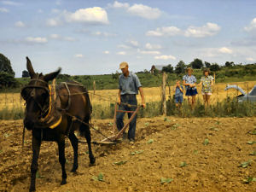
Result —
[[[66,20],[67,22],[108,24],[108,14],[100,7],[78,9],[74,13],[67,13]]]

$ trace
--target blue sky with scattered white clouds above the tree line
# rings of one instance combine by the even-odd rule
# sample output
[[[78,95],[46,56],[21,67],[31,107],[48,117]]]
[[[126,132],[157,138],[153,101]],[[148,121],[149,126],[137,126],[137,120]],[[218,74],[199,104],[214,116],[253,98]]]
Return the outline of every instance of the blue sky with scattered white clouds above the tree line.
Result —
[[[0,0],[0,53],[16,77],[107,74],[199,58],[256,62],[255,0]]]

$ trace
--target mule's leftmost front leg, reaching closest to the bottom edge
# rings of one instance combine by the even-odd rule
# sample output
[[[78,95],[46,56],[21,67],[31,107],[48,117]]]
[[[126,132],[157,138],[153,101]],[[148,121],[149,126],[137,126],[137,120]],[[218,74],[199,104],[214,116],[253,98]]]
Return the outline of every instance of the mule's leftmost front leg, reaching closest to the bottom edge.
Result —
[[[32,134],[32,164],[31,164],[31,183],[29,191],[36,190],[36,174],[38,171],[38,156],[40,151],[41,141]]]

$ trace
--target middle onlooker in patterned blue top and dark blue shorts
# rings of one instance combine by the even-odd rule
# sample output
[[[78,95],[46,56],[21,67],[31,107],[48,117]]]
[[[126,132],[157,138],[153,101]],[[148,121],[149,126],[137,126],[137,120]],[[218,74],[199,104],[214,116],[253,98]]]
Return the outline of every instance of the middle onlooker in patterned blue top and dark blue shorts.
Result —
[[[195,88],[196,79],[195,76],[192,75],[193,69],[188,67],[186,69],[188,74],[183,76],[183,85],[186,87],[186,96],[188,96],[189,105],[194,110],[195,108],[195,96],[197,94],[197,90]]]

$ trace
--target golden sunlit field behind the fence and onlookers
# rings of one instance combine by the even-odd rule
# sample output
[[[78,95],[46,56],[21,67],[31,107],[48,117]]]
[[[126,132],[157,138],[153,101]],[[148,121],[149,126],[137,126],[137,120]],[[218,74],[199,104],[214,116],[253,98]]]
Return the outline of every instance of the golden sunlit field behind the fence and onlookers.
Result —
[[[230,83],[237,84],[241,87],[241,89],[246,92],[252,90],[253,86],[256,85],[256,81],[248,81],[248,82],[239,82],[239,83]],[[227,96],[235,97],[239,96],[241,93],[237,90],[231,89],[225,91],[225,87],[227,84],[219,83],[215,84],[213,87],[212,93],[212,104],[216,102],[222,102]],[[169,96],[173,96],[175,87],[166,86],[166,100]],[[201,96],[201,87],[197,87],[199,94],[197,95],[199,100],[202,100]],[[143,88],[145,102],[159,102],[161,99],[160,96],[160,87],[151,87],[151,88]],[[90,100],[93,105],[101,105],[102,107],[108,107],[110,103],[117,102],[117,93],[118,90],[96,90],[95,95],[93,94],[93,90],[89,90],[90,92]],[[185,92],[185,91],[184,91]],[[186,99],[184,93],[184,99]],[[141,96],[137,96],[138,103],[141,103]],[[1,93],[0,94],[0,109],[2,108],[20,108],[24,107],[24,101],[20,98],[19,93]]]

